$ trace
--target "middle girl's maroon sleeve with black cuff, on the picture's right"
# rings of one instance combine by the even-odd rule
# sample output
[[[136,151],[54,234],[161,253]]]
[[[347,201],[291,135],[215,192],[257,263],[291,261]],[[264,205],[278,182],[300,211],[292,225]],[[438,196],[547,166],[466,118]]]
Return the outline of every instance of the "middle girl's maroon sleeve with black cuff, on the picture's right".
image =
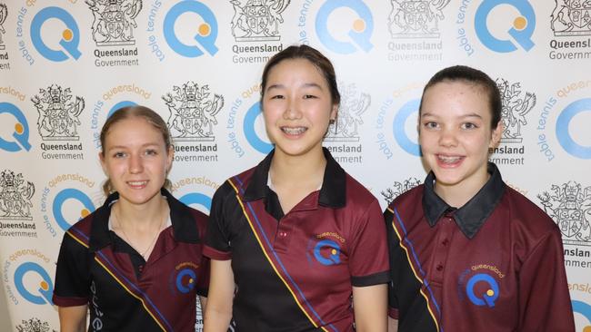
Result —
[[[377,200],[357,222],[349,258],[351,283],[355,287],[385,284],[390,279],[386,228]]]

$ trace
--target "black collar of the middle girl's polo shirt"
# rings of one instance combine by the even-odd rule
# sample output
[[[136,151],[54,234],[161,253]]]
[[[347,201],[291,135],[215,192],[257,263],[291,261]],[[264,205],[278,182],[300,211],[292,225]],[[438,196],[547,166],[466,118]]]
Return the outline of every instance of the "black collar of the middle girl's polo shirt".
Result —
[[[322,151],[326,158],[326,168],[318,196],[318,204],[331,208],[342,208],[346,204],[346,172],[326,148],[322,148]],[[246,201],[266,198],[267,177],[274,153],[275,150],[271,151],[263,161],[256,165],[245,190],[244,199]]]

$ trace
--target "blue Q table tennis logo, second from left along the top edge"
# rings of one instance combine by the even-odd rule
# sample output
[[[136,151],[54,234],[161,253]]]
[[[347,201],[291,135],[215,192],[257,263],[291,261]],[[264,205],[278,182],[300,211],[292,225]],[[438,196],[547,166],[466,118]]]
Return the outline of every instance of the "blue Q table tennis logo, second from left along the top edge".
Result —
[[[167,10],[164,19],[160,19],[158,15],[163,4],[165,2],[155,0],[150,5],[145,29],[149,33],[148,46],[158,61],[165,60],[161,39],[155,34],[159,26],[162,26],[165,43],[176,54],[195,58],[205,53],[212,56],[217,53],[218,49],[215,45],[218,34],[217,19],[207,5],[194,0],[179,1]],[[191,25],[176,26],[179,17],[186,14],[196,16],[190,21]]]

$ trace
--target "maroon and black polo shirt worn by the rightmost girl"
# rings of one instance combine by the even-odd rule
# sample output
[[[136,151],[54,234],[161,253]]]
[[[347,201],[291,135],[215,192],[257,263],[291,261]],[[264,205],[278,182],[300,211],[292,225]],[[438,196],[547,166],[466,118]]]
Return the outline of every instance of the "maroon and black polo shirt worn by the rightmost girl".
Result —
[[[398,331],[575,331],[560,230],[495,164],[455,209],[435,176],[385,212]]]

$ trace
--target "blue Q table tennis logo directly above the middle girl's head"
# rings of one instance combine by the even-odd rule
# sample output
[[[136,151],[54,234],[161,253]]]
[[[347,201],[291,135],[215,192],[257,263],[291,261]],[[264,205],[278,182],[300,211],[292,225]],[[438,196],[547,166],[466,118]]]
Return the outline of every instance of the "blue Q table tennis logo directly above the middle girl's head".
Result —
[[[320,6],[316,3],[320,3]],[[346,15],[341,9],[347,9],[346,12],[354,14]],[[311,19],[314,19],[314,23],[310,23]],[[336,54],[368,53],[374,48],[371,42],[374,17],[364,1],[306,0],[297,19],[299,43],[311,43],[310,38],[313,34],[309,32],[310,25],[314,27],[318,41]]]

